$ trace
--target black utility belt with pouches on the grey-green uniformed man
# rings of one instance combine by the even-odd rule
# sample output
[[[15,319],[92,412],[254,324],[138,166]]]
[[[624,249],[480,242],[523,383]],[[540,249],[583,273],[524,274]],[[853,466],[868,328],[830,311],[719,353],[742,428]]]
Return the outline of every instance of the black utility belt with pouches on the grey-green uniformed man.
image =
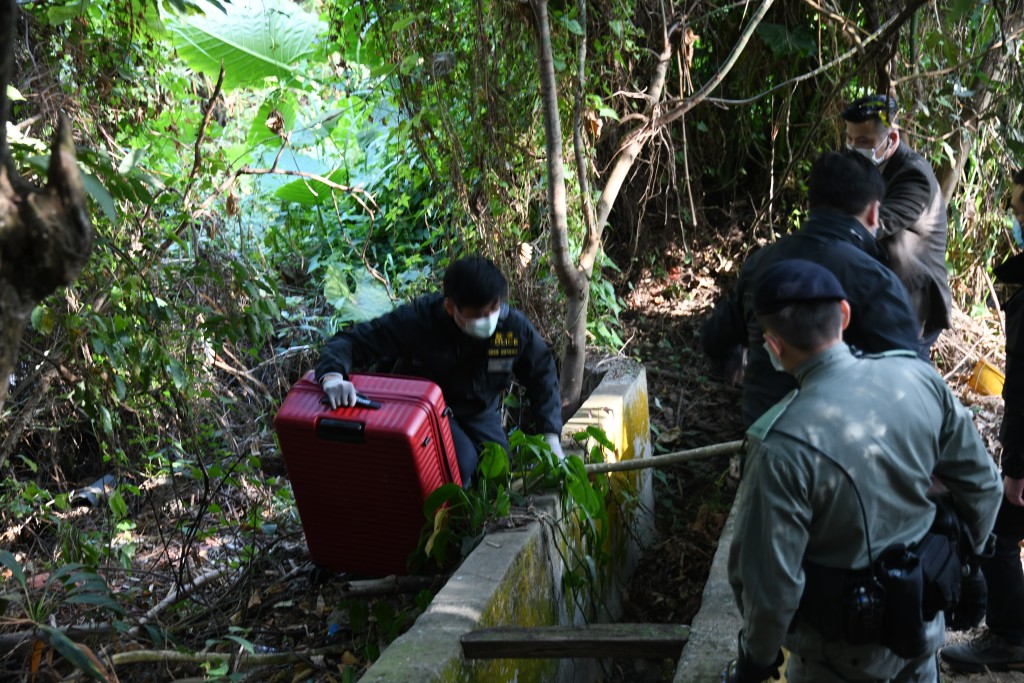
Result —
[[[910,546],[889,546],[863,569],[805,561],[797,620],[829,640],[877,643],[904,658],[921,656],[927,646],[925,625],[951,610],[959,595],[955,550],[954,539],[929,532]]]

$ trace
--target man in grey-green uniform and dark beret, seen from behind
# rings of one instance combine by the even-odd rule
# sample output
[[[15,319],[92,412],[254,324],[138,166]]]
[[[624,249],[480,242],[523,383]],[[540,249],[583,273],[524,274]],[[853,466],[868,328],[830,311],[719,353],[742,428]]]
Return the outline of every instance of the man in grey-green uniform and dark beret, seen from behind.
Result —
[[[934,475],[980,553],[999,506],[992,459],[970,414],[912,351],[850,353],[850,306],[827,269],[778,261],[753,299],[772,364],[800,388],[748,431],[729,549],[743,626],[723,680],[767,679],[784,645],[791,683],[934,683],[946,605],[924,597],[935,585],[919,568],[932,566],[926,547],[944,561],[952,554],[948,542],[924,543],[936,515],[927,494]],[[896,558],[905,573],[886,573]],[[921,583],[900,597],[894,586],[904,584],[886,582],[903,575]]]

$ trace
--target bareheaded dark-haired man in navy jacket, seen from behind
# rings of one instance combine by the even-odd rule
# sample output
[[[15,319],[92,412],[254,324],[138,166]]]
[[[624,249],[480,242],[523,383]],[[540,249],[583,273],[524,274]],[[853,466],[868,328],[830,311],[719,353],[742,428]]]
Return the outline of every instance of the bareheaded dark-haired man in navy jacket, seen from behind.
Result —
[[[839,279],[852,310],[844,341],[869,353],[918,347],[918,324],[906,290],[876,257],[872,237],[885,187],[878,170],[863,158],[830,152],[811,167],[810,216],[801,229],[751,255],[733,290],[720,301],[700,331],[705,353],[726,374],[745,345],[742,410],[750,425],[797,388],[792,375],[773,367],[762,346],[754,314],[754,283],[772,263],[805,259],[823,265]]]

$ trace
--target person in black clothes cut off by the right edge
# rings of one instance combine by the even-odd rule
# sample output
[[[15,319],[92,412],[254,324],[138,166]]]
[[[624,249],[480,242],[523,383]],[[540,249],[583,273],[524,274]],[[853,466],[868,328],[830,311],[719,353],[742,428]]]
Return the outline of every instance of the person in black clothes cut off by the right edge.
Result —
[[[1024,170],[1014,174],[1011,197],[1015,227],[1024,222]],[[1020,233],[1020,228],[1014,230]],[[1024,245],[1018,245],[1024,246]],[[981,565],[988,584],[988,629],[964,645],[942,649],[953,671],[1024,671],[1024,253],[994,268],[996,282],[1012,293],[1002,304],[1007,328],[1007,372],[1002,385],[1002,507],[995,520],[995,553]]]

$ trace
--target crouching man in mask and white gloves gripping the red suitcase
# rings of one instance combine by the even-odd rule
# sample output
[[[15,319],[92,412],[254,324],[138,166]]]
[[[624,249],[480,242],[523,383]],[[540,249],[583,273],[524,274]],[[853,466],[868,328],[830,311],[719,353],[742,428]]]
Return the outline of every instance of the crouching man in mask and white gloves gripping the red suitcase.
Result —
[[[499,401],[514,375],[525,387],[535,428],[564,457],[555,361],[526,316],[505,302],[505,275],[490,260],[471,256],[449,266],[443,287],[443,293],[419,297],[328,341],[316,379],[331,407],[355,404],[358,387],[348,379],[353,368],[397,358],[396,374],[431,380],[444,394],[468,487],[482,443],[508,447]]]

